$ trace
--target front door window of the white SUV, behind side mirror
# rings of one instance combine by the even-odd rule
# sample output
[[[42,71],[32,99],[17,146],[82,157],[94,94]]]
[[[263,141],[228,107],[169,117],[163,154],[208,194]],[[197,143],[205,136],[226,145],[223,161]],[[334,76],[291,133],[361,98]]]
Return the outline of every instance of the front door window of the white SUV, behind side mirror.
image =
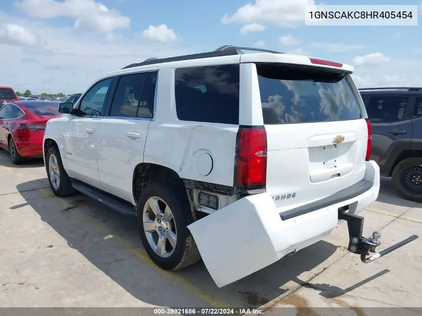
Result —
[[[97,82],[86,92],[80,102],[79,110],[86,116],[100,116],[105,107],[107,92],[110,89],[113,78]]]

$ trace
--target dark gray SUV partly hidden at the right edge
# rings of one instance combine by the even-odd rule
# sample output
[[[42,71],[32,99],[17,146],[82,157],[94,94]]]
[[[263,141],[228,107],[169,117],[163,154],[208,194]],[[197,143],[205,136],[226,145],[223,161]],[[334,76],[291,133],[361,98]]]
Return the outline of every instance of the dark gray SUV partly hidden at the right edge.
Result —
[[[359,90],[372,123],[371,159],[400,196],[422,202],[422,88]]]

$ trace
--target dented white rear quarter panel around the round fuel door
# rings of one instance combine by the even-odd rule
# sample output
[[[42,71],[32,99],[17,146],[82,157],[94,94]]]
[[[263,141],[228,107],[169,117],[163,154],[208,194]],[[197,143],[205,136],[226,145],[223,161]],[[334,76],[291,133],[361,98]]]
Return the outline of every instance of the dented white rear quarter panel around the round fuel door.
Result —
[[[239,126],[179,121],[173,82],[174,69],[160,70],[156,118],[149,125],[144,162],[170,168],[180,178],[233,186]],[[212,170],[205,176],[197,171],[204,153],[212,157]]]

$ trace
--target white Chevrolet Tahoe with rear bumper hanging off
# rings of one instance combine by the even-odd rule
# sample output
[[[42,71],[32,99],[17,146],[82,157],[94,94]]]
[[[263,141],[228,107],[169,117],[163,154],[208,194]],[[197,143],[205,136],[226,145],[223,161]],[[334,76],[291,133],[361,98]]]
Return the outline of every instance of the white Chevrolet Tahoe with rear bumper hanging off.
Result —
[[[46,124],[51,190],[137,216],[158,266],[202,257],[218,287],[324,239],[342,220],[364,261],[379,236],[363,238],[356,214],[376,200],[380,173],[352,72],[234,46],[128,65],[74,106],[61,103],[65,114]]]

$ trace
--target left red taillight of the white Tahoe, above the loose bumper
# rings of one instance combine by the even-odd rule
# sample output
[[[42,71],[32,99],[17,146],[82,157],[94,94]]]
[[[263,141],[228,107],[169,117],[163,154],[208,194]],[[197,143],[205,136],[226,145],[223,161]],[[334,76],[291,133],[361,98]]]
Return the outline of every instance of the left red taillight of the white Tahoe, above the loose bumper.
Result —
[[[263,188],[267,182],[267,132],[264,126],[240,126],[236,140],[237,188]]]

